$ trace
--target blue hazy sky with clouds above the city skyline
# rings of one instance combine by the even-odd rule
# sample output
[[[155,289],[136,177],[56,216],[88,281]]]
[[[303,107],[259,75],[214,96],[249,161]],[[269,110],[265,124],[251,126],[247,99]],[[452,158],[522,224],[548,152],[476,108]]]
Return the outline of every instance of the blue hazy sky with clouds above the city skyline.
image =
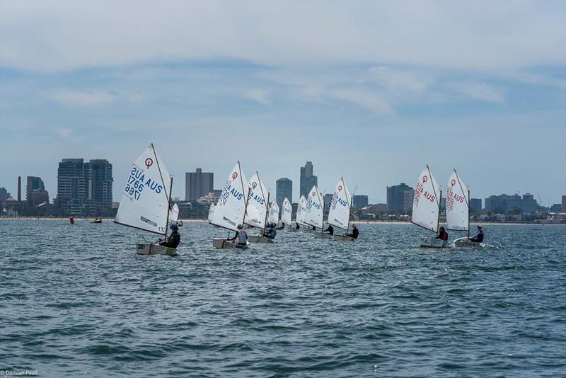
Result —
[[[313,161],[370,202],[456,168],[471,197],[566,194],[566,1],[0,1],[0,187],[154,142],[221,188]],[[25,188],[23,188],[25,193]]]

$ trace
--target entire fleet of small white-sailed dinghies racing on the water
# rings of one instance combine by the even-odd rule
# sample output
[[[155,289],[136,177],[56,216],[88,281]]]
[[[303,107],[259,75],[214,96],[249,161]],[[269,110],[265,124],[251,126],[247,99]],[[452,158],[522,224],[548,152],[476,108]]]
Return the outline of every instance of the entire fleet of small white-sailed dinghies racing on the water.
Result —
[[[171,206],[171,191],[173,176],[169,174],[163,159],[159,156],[154,144],[141,154],[132,164],[124,192],[120,199],[115,217],[115,223],[135,229],[141,229],[167,238],[171,224],[177,224],[179,208]],[[260,230],[258,235],[248,236],[248,241],[256,243],[272,243],[272,238],[264,236],[265,228],[282,226],[289,231],[297,231],[304,227],[306,231],[320,229],[316,236],[323,234],[324,200],[316,185],[305,197],[301,195],[296,210],[296,227],[291,227],[292,206],[286,197],[279,211],[275,200],[270,202],[269,190],[256,171],[250,181],[246,181],[241,164],[238,161],[229,173],[219,200],[212,204],[208,221],[216,227],[229,231],[226,238],[212,239],[214,248],[246,248],[247,244],[238,244],[235,238],[230,238],[230,232],[241,230],[244,224]],[[429,166],[425,166],[417,178],[415,195],[412,202],[411,222],[427,229],[434,234],[439,233],[442,190],[432,176]],[[349,236],[350,217],[352,212],[352,193],[344,178],[336,183],[328,210],[328,224],[342,230],[344,234],[334,234],[335,241],[354,241]],[[468,235],[454,241],[455,246],[478,246],[480,243],[470,241],[470,190],[463,183],[456,169],[451,173],[446,184],[446,229],[463,231]],[[356,231],[356,230],[354,230]],[[442,231],[442,230],[440,230]],[[354,235],[357,234],[354,232]],[[446,235],[423,236],[420,246],[444,248],[447,246]],[[473,239],[472,239],[473,240]],[[480,239],[481,240],[481,239]],[[141,255],[170,255],[177,254],[176,248],[144,241],[136,244],[136,252]]]

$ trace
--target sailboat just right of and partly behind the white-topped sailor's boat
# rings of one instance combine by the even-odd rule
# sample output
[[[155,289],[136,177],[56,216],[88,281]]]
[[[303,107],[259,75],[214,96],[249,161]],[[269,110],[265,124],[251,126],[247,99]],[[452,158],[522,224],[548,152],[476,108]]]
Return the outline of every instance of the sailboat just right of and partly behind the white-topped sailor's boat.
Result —
[[[263,236],[267,226],[267,204],[270,193],[261,181],[260,173],[256,171],[248,183],[248,205],[246,206],[246,221],[248,226],[260,229],[258,235],[248,235],[250,243],[273,243],[273,239]]]

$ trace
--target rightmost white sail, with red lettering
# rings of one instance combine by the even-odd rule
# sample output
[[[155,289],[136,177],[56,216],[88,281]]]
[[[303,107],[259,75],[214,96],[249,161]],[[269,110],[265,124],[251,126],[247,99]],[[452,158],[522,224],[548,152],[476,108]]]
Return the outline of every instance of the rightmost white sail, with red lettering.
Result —
[[[446,228],[455,231],[468,231],[470,222],[470,199],[468,188],[464,185],[456,169],[446,185]]]

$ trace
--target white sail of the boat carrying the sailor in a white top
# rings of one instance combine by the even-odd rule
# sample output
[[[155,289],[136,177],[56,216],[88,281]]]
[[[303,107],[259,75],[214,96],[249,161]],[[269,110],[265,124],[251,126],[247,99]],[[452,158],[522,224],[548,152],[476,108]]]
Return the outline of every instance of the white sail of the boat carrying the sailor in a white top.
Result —
[[[236,231],[246,214],[248,182],[243,176],[240,162],[230,171],[216,206],[210,208],[208,222]]]

